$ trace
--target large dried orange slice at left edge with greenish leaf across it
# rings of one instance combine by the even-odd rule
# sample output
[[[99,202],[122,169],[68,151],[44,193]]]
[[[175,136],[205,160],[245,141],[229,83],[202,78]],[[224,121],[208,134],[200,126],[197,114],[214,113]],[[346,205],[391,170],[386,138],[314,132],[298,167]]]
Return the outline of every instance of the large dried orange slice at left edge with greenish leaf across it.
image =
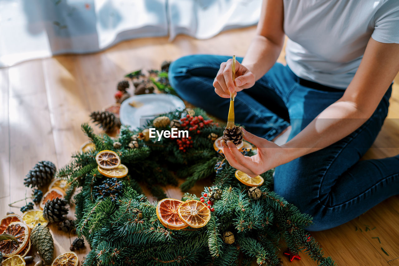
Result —
[[[23,222],[10,223],[4,234],[10,234],[16,238],[18,244],[12,240],[3,240],[0,242],[0,252],[3,257],[14,256],[23,250],[29,242],[29,228]]]

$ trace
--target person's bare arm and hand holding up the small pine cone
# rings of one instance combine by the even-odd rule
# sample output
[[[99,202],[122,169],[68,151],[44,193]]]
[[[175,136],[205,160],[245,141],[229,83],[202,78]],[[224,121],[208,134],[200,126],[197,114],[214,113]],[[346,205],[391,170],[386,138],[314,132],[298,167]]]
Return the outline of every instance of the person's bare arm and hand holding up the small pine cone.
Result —
[[[356,75],[341,99],[324,109],[298,135],[281,147],[249,132],[244,139],[258,147],[258,154],[244,157],[229,143],[223,153],[229,163],[255,176],[298,157],[323,149],[358,129],[375,111],[399,71],[399,44],[370,38]]]

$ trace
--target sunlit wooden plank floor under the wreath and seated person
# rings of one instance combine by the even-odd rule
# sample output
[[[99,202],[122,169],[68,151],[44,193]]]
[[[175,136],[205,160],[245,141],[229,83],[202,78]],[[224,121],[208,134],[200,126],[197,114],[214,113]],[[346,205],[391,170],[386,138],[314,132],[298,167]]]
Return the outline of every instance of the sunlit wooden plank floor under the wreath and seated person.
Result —
[[[0,69],[0,216],[10,210],[21,214],[19,208],[8,204],[24,198],[26,191],[29,195],[23,179],[36,162],[50,160],[62,167],[69,161],[71,153],[86,141],[81,123],[89,121],[91,111],[114,102],[116,84],[124,74],[140,68],[159,68],[162,61],[187,54],[243,56],[254,34],[252,27],[225,32],[210,40],[186,36],[173,42],[167,38],[131,40],[97,54],[55,56]],[[283,60],[282,54],[280,61]],[[365,158],[399,154],[399,86],[393,91],[389,118]],[[198,184],[192,191],[199,193],[202,187]],[[167,193],[181,197],[176,187],[168,187]],[[399,266],[398,221],[399,196],[338,228],[313,235],[326,255],[340,266]],[[365,231],[366,225],[375,229]],[[54,226],[51,230],[55,256],[69,250],[69,236]],[[379,237],[381,243],[373,237]],[[79,251],[79,258],[87,251]],[[283,261],[291,265],[285,257]],[[302,254],[302,259],[292,265],[316,264]]]

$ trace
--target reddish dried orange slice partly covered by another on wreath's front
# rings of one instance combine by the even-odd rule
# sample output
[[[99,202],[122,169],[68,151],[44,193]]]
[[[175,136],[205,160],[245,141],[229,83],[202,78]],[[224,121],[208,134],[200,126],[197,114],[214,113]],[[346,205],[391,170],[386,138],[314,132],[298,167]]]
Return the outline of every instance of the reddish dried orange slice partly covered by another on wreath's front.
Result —
[[[177,212],[183,201],[177,199],[163,199],[156,206],[156,216],[163,226],[169,229],[178,230],[188,226],[180,219]]]

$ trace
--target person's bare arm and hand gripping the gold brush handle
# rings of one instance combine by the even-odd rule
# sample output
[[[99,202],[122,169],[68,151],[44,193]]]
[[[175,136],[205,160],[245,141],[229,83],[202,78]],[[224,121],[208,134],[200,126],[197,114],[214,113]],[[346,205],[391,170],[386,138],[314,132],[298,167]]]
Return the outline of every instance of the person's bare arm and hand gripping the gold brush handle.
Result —
[[[282,0],[263,0],[257,34],[252,40],[243,62],[235,66],[232,60],[223,62],[213,81],[217,95],[229,98],[230,93],[248,89],[275,64],[284,44],[284,9]]]

